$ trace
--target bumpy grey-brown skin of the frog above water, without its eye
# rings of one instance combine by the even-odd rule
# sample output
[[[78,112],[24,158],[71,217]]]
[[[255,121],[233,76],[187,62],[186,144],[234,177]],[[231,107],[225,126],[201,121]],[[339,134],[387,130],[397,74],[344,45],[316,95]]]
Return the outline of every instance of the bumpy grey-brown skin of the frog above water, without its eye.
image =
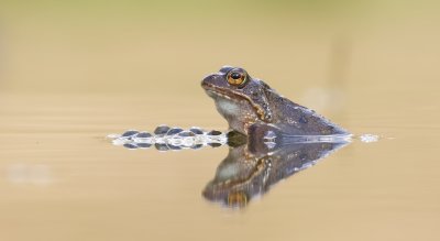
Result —
[[[228,81],[228,74],[237,70],[245,73],[246,81],[242,86]],[[242,68],[224,66],[207,76],[201,86],[213,98],[230,129],[246,135],[253,124],[271,125],[285,135],[349,134],[315,111],[278,95]]]

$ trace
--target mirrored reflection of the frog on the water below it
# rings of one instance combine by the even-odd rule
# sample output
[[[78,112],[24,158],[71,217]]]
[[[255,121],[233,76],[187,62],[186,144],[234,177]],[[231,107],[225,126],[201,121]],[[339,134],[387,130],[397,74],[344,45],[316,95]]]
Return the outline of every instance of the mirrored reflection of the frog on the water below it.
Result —
[[[280,179],[310,167],[348,143],[338,139],[283,143],[260,138],[248,143],[233,143],[235,146],[230,147],[202,195],[228,207],[245,207],[253,197],[264,195]]]

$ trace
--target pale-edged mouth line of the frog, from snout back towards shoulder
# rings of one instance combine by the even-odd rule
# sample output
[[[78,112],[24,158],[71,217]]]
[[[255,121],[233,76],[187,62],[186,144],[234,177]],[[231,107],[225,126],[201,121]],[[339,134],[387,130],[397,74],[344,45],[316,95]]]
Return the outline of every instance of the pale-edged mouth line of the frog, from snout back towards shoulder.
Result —
[[[241,92],[232,92],[230,90],[224,90],[222,88],[218,88],[216,86],[211,86],[209,84],[204,84],[205,91],[207,95],[213,99],[222,98],[234,102],[246,102],[251,107],[254,108],[256,116],[260,120],[264,121],[265,112],[263,108],[258,105],[255,105],[251,101],[251,99]]]

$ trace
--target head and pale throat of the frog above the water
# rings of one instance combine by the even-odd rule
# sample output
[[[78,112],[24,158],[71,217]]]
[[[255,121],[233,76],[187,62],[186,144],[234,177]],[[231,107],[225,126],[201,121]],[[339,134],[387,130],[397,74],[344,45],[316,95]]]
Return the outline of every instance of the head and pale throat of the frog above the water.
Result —
[[[270,87],[252,78],[243,68],[224,66],[207,76],[201,87],[212,97],[218,111],[235,131],[246,133],[246,127],[252,123],[272,121],[266,97]]]

